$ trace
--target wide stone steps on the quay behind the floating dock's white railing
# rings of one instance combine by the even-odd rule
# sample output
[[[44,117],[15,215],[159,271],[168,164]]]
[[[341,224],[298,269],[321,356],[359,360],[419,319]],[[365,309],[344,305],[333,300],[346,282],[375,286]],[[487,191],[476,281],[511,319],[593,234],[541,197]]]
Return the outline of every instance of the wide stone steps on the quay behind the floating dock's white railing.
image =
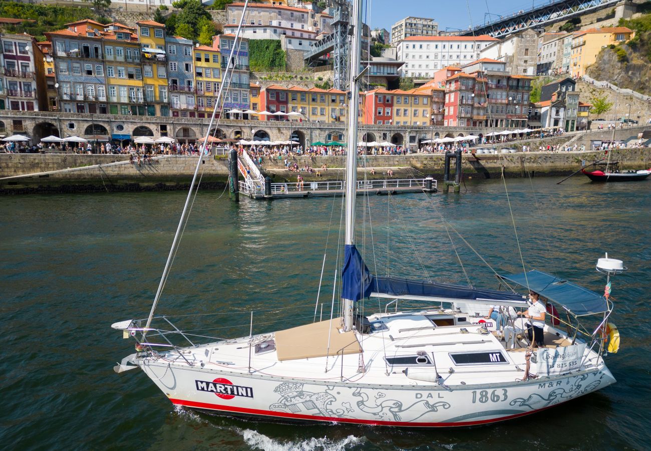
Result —
[[[387,176],[387,171],[393,171],[393,177]],[[265,173],[271,177],[271,182],[280,183],[296,183],[298,175],[303,176],[305,183],[309,182],[324,182],[324,181],[340,181],[345,177],[343,167],[329,167],[327,171],[323,169],[314,168],[321,176],[318,177],[316,173],[309,173],[306,171],[292,172],[288,169],[264,169]],[[375,174],[371,171],[374,170]],[[386,180],[386,179],[424,179],[425,175],[411,166],[398,166],[398,167],[358,167],[357,180]]]

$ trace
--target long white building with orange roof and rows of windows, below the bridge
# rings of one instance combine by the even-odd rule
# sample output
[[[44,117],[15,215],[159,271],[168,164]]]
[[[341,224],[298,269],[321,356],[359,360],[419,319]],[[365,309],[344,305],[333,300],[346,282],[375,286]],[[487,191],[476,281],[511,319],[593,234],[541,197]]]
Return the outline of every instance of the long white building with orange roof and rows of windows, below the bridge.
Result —
[[[498,39],[481,36],[409,36],[397,47],[398,61],[404,61],[401,76],[434,78],[447,66],[463,66],[479,59],[480,51]]]

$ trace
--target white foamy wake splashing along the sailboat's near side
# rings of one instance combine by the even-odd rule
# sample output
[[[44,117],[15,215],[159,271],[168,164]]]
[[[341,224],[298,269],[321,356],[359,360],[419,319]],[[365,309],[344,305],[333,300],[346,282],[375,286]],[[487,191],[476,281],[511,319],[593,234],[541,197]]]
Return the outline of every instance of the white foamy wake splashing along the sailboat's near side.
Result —
[[[184,409],[180,405],[174,406],[174,413],[182,416],[188,420],[203,422],[198,413],[189,409]],[[364,437],[355,437],[348,435],[342,439],[329,439],[327,437],[309,437],[306,439],[273,439],[252,429],[242,429],[236,426],[223,427],[217,424],[212,424],[215,428],[229,429],[240,436],[244,443],[246,443],[253,450],[263,451],[345,451],[352,449],[355,445],[361,444],[365,439]]]

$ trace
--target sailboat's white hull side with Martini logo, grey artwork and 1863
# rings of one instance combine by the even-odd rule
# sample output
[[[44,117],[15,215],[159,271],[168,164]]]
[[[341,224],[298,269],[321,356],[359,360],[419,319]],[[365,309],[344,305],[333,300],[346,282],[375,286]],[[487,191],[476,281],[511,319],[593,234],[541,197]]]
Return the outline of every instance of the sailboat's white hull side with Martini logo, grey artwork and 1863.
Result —
[[[147,360],[134,363],[174,405],[287,423],[473,426],[529,415],[615,383],[603,364],[590,371],[517,383],[392,388],[187,370]]]

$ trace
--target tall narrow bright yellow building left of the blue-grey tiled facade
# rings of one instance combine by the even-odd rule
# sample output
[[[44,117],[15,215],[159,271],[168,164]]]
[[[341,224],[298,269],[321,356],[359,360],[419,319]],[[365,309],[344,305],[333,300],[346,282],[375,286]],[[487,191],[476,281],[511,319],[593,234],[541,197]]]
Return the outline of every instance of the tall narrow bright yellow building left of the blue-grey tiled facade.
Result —
[[[141,20],[136,25],[141,46],[147,115],[169,116],[165,25],[153,20]]]

